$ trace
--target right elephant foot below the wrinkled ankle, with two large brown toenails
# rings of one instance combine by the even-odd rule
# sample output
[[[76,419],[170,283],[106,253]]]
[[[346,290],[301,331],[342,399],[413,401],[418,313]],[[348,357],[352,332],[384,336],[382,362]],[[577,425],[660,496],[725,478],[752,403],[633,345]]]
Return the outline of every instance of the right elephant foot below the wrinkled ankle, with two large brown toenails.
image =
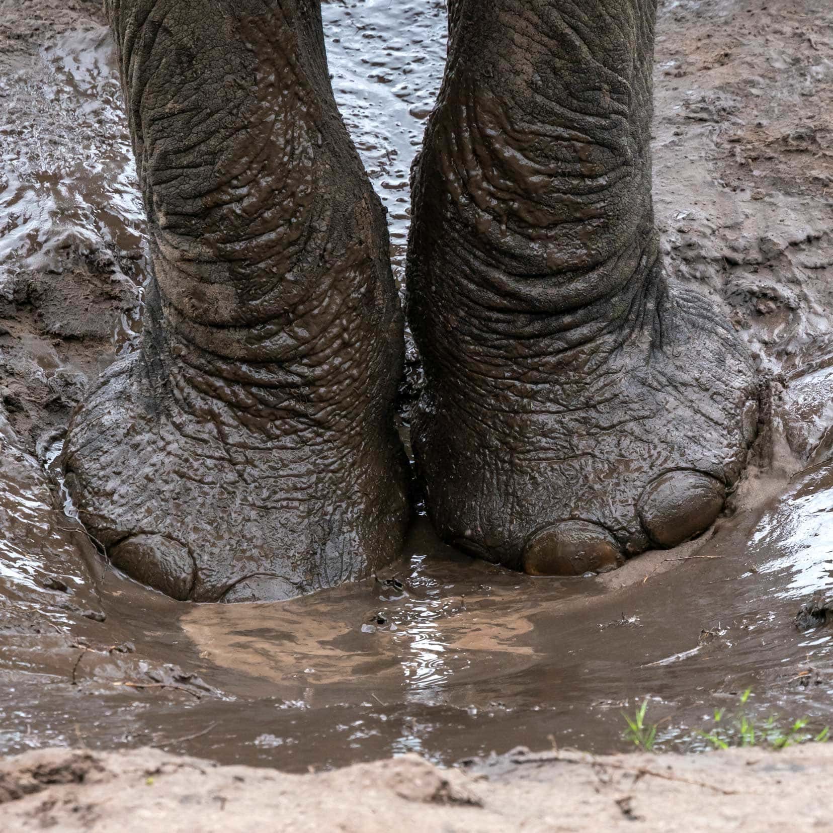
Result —
[[[581,576],[716,520],[756,434],[756,377],[701,297],[658,284],[639,326],[570,356],[519,350],[511,365],[492,356],[471,376],[429,377],[414,447],[447,541],[532,575]]]

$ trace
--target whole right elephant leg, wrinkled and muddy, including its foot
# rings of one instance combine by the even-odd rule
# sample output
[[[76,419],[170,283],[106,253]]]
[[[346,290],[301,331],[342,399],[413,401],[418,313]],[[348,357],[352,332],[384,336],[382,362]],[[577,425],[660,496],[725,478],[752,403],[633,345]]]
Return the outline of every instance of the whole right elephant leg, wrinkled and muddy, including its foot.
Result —
[[[651,201],[655,0],[457,0],[414,172],[412,425],[447,541],[534,574],[706,530],[756,373],[675,287]]]

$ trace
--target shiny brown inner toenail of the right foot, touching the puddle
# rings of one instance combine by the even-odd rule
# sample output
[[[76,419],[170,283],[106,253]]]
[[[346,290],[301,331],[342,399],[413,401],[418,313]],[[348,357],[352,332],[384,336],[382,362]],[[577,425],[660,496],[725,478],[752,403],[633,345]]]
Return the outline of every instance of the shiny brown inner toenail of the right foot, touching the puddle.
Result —
[[[531,576],[582,576],[624,563],[616,538],[590,521],[561,521],[526,543],[523,569]]]

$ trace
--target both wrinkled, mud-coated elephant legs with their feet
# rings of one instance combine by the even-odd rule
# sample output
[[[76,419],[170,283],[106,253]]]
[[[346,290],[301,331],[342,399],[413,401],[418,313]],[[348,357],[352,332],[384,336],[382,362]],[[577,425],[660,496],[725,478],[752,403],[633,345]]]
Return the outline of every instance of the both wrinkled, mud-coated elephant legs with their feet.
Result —
[[[402,320],[318,0],[107,0],[155,277],[142,349],[63,462],[117,566],[179,599],[366,576],[407,525]],[[721,511],[756,380],[669,287],[651,209],[653,0],[454,0],[415,170],[412,426],[436,528],[601,571]]]

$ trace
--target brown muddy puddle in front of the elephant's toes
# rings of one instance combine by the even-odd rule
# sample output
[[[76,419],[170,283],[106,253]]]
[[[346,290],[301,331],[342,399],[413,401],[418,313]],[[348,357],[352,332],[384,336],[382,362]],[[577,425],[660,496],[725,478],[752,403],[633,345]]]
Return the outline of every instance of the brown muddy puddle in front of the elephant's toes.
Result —
[[[161,743],[295,771],[404,751],[451,763],[550,736],[610,751],[646,696],[661,744],[696,748],[693,730],[747,687],[757,715],[821,727],[833,631],[794,618],[833,586],[831,508],[821,467],[709,541],[598,578],[501,571],[424,521],[380,581],[284,604],[183,605],[108,571],[92,600],[105,621],[68,641],[42,597],[56,632],[4,636],[0,751]]]

